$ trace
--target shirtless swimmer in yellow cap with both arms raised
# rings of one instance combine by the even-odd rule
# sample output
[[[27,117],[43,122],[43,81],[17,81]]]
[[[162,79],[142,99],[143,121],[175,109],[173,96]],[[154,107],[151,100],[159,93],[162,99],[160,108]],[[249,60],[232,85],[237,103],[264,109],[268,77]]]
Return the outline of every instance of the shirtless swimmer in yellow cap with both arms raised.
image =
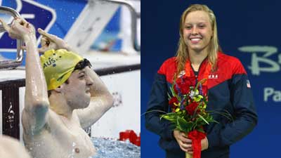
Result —
[[[4,24],[4,22],[2,22]],[[112,107],[112,96],[88,60],[67,51],[62,39],[39,29],[44,38],[39,57],[34,27],[17,18],[4,28],[13,39],[25,41],[25,108],[23,138],[32,157],[85,158],[95,154],[83,130]],[[91,101],[91,102],[90,102]]]

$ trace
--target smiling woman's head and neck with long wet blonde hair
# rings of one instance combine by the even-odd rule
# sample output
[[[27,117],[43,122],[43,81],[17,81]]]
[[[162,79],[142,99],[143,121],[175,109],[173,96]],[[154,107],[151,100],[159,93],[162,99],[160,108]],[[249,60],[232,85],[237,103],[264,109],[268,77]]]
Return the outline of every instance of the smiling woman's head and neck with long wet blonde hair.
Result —
[[[179,33],[180,39],[176,52],[177,74],[184,69],[185,61],[190,58],[190,55],[197,55],[199,58],[201,57],[201,60],[208,56],[212,70],[215,70],[217,52],[222,50],[218,44],[214,12],[204,5],[191,5],[181,15]],[[195,61],[194,64],[198,65],[198,61]]]

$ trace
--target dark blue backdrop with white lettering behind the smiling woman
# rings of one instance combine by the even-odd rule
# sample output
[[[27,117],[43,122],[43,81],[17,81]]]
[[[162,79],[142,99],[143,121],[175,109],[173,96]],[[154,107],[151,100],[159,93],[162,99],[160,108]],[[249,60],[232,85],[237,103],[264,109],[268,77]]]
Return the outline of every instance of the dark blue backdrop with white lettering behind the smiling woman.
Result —
[[[207,4],[214,11],[223,52],[240,58],[251,81],[259,122],[231,146],[230,157],[281,157],[281,1],[143,1],[141,113],[155,73],[176,53],[181,13],[190,4]],[[144,119],[141,157],[164,157],[157,145],[159,137],[145,129]]]

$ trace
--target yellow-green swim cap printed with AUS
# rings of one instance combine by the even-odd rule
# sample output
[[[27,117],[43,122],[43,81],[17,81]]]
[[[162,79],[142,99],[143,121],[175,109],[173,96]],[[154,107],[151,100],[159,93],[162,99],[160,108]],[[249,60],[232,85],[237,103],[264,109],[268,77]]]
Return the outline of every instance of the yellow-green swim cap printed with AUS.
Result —
[[[48,90],[65,83],[72,74],[74,67],[83,58],[77,53],[65,49],[48,50],[40,56],[41,66],[45,74]]]

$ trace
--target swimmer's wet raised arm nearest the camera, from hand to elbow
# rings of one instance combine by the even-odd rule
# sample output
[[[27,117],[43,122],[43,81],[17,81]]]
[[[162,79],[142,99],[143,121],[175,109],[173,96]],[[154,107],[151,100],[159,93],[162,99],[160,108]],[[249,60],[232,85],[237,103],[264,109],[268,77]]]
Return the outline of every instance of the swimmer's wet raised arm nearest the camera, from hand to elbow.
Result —
[[[5,22],[2,24],[11,38],[25,41],[27,53],[25,60],[25,108],[22,112],[22,125],[26,134],[34,134],[46,124],[46,113],[49,105],[34,27],[22,18],[13,20],[11,27],[8,27]]]

